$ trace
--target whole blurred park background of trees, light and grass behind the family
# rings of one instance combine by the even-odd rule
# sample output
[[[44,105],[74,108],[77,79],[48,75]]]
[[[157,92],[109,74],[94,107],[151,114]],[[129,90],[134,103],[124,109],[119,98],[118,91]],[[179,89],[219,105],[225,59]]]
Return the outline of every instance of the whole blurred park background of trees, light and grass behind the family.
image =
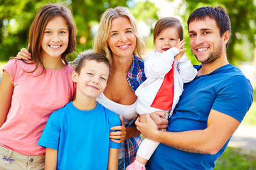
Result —
[[[127,6],[132,11],[146,38],[145,55],[154,49],[154,23],[164,16],[177,17],[183,23],[188,49],[186,54],[193,64],[199,63],[189,48],[186,24],[189,14],[200,6],[223,6],[232,26],[228,61],[240,67],[256,89],[256,0],[0,0],[0,69],[9,57],[16,56],[22,47],[28,46],[28,32],[33,18],[38,9],[47,3],[64,3],[72,8],[78,28],[77,53],[92,48],[100,17],[107,8]],[[69,55],[68,59],[75,59],[75,55]],[[256,126],[255,102],[243,123]],[[256,154],[248,153],[229,147],[215,169],[256,169]]]

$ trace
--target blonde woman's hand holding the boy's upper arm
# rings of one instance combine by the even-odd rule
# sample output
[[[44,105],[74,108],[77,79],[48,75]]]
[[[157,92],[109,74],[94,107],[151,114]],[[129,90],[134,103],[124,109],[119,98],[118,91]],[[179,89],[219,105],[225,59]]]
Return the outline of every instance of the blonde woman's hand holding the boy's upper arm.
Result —
[[[128,138],[127,131],[124,125],[124,118],[122,117],[122,115],[119,115],[119,118],[121,120],[121,125],[110,128],[111,130],[119,130],[116,132],[110,132],[110,139],[116,143],[121,143]]]

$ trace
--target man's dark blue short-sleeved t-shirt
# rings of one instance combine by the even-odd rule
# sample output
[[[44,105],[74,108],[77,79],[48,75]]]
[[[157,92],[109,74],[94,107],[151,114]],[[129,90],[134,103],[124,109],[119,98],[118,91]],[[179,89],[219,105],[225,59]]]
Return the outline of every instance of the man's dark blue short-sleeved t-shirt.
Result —
[[[252,100],[253,90],[250,81],[238,67],[232,64],[225,65],[184,84],[184,91],[174,115],[169,118],[167,131],[203,130],[207,128],[211,109],[230,115],[241,122]],[[146,164],[146,169],[213,169],[215,160],[224,152],[228,142],[217,154],[184,152],[160,144]]]

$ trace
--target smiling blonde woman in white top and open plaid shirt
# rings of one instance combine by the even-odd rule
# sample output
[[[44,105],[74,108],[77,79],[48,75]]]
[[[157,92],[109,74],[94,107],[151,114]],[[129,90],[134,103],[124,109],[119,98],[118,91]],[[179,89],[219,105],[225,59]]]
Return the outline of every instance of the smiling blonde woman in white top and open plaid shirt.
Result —
[[[134,16],[127,8],[110,8],[103,13],[93,49],[106,55],[111,62],[110,80],[97,101],[121,115],[122,126],[112,128],[120,131],[110,133],[110,137],[122,144],[119,149],[119,169],[124,169],[124,159],[127,166],[142,142],[136,126],[129,126],[129,123],[137,116],[137,96],[134,91],[146,80],[144,60],[140,57],[144,40],[138,33]]]

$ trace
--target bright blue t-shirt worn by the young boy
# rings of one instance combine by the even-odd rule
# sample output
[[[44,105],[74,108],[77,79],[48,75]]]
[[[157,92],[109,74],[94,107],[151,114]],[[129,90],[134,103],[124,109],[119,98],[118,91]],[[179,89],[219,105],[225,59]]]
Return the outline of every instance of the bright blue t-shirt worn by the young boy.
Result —
[[[70,102],[50,115],[38,145],[58,150],[57,169],[107,169],[109,148],[121,147],[110,140],[110,128],[120,124],[100,103],[81,111]]]

